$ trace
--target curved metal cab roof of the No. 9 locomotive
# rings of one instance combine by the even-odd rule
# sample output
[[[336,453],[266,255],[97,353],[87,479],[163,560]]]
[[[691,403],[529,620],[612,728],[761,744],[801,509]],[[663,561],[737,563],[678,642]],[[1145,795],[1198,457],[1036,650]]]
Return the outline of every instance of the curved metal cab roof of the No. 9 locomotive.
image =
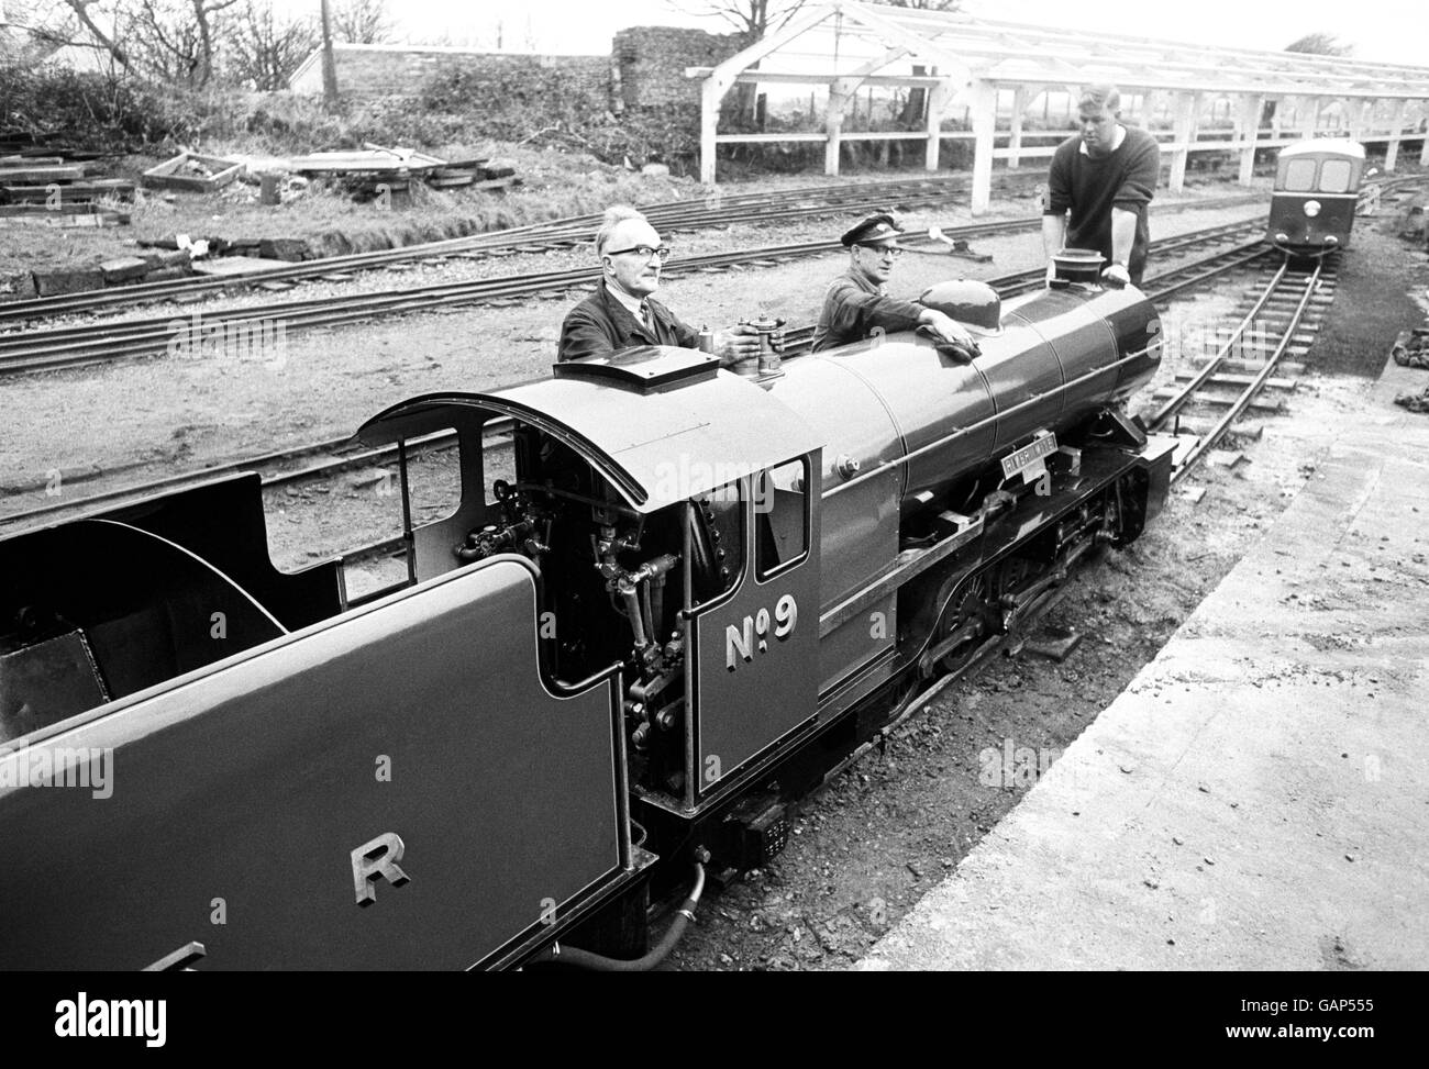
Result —
[[[656,363],[694,366],[689,357],[666,356]],[[609,373],[577,373],[494,393],[429,393],[373,416],[356,437],[389,444],[449,427],[479,430],[502,416],[570,446],[637,512],[689,500],[823,446],[793,409],[749,379],[719,370],[717,362],[707,369],[700,362],[699,373],[653,390]]]

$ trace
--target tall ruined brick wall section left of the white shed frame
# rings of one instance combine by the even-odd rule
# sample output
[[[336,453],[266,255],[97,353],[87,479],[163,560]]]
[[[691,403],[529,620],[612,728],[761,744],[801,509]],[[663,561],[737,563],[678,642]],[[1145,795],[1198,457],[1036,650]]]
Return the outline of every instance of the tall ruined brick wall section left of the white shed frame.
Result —
[[[610,49],[612,97],[622,107],[656,109],[700,103],[700,83],[686,67],[713,67],[743,47],[737,33],[674,26],[633,26]]]

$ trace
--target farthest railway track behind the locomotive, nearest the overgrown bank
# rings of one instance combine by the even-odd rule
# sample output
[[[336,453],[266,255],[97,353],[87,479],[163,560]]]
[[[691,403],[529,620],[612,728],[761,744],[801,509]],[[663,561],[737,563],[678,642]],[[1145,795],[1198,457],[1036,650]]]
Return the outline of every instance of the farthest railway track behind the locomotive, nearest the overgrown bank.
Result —
[[[1000,176],[1005,189],[1029,184],[1036,173]],[[876,207],[933,207],[967,189],[965,176],[899,179],[890,182],[845,183],[842,186],[806,186],[775,193],[712,194],[699,200],[672,200],[646,204],[640,210],[667,234],[687,233],[733,223],[775,223]],[[259,283],[297,283],[353,272],[376,270],[393,264],[440,263],[450,259],[482,260],[516,253],[542,253],[589,244],[600,224],[599,214],[570,216],[546,223],[532,223],[494,233],[453,237],[442,242],[352,253],[309,260],[243,276],[196,276],[169,282],[116,286],[89,293],[37,297],[0,304],[0,324],[51,319],[54,316],[99,313],[134,304],[176,297],[216,296]]]

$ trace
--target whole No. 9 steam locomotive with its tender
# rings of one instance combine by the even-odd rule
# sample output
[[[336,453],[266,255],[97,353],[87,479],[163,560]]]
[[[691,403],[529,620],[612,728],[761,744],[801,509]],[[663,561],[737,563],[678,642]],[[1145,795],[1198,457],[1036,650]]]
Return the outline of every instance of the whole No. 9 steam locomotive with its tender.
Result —
[[[777,852],[1162,507],[1152,304],[1059,280],[992,322],[972,362],[640,349],[397,404],[357,436],[454,430],[462,497],[414,524],[403,446],[407,577],[362,599],[272,566],[252,473],[0,542],[0,966],[642,953],[652,883]],[[49,786],[96,755],[104,790]]]

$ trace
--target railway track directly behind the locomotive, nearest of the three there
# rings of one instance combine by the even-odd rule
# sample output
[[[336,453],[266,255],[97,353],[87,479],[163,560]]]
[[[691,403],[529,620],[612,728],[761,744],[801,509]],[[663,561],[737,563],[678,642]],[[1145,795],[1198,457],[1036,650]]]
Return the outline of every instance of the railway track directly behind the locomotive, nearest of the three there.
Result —
[[[1250,263],[1259,257],[1270,254],[1272,250],[1269,246],[1265,246],[1259,237],[1255,240],[1243,240],[1250,232],[1259,233],[1258,220],[1210,227],[1208,230],[1180,234],[1177,237],[1163,239],[1162,242],[1153,243],[1152,249],[1157,256],[1179,254],[1205,246],[1212,246],[1215,250],[1209,256],[1182,264],[1173,270],[1163,272],[1162,274],[1147,280],[1147,296],[1153,300],[1167,300],[1170,296],[1185,289],[1203,284],[1205,282],[1216,279],[1226,272],[1236,270],[1245,263]],[[1043,284],[1043,279],[1045,270],[1039,267],[1035,270],[1013,272],[996,279],[989,279],[989,283],[1003,297],[1009,297],[1040,287]],[[815,327],[810,323],[787,330],[785,334],[786,356],[793,359],[807,353],[809,344],[813,340],[813,329]],[[502,437],[509,433],[509,427],[503,420],[493,420],[487,430],[493,436],[493,443],[499,443]],[[409,443],[409,456],[420,456],[426,452],[446,449],[453,442],[454,436],[452,434],[432,434],[426,439]],[[181,486],[191,486],[194,483],[231,474],[234,472],[257,470],[263,474],[263,486],[276,489],[306,479],[332,476],[360,467],[374,467],[394,460],[394,447],[357,450],[347,437],[330,439],[303,444],[294,449],[276,450],[262,456],[244,457],[242,460],[233,460],[214,467],[206,467],[199,472],[136,483],[103,493],[86,494],[83,497],[73,497],[63,502],[47,502],[31,509],[0,516],[0,527],[30,524],[44,522],[60,513],[80,509],[99,509],[101,506],[114,506],[129,500],[139,500],[153,493],[173,490]],[[373,547],[363,549],[367,552],[376,552]]]

